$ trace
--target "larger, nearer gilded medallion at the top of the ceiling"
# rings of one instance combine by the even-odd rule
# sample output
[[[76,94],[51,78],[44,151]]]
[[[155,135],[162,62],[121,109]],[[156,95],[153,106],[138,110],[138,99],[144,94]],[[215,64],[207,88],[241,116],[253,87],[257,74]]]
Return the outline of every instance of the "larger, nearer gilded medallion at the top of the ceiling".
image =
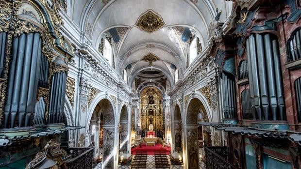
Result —
[[[160,15],[149,10],[139,17],[136,25],[142,31],[152,33],[154,31],[159,31],[164,26],[164,22]]]

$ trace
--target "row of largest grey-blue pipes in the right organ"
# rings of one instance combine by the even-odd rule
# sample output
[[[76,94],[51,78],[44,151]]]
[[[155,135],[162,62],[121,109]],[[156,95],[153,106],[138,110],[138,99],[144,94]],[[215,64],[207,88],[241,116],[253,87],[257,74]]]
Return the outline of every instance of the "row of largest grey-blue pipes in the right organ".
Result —
[[[251,34],[246,44],[250,70],[250,97],[252,107],[257,113],[256,118],[284,120],[283,85],[277,39],[270,34]]]

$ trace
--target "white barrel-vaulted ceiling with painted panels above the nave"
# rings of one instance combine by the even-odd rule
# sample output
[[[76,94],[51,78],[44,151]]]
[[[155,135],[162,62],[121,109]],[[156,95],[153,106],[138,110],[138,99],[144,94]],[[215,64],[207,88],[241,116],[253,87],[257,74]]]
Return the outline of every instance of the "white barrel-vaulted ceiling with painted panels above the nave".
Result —
[[[160,71],[171,85],[174,69],[180,75],[186,70],[189,39],[196,35],[206,46],[215,25],[216,9],[225,22],[231,1],[224,0],[69,0],[67,15],[91,39],[95,48],[101,37],[110,35],[119,74],[128,71],[129,85],[139,72]],[[146,15],[156,18],[143,20]],[[139,20],[140,19],[140,20]],[[142,21],[141,21],[142,20]],[[152,30],[145,30],[143,26]],[[143,61],[149,54],[157,61]]]

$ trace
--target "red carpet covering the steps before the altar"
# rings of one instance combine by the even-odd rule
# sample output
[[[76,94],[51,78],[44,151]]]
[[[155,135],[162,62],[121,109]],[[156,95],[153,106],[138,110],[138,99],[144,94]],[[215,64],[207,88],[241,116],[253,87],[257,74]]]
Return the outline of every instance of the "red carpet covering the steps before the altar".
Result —
[[[132,154],[136,154],[136,152],[148,152],[148,155],[154,155],[155,151],[164,151],[167,155],[170,154],[170,147],[162,147],[162,144],[156,144],[155,146],[146,146],[142,145],[142,147],[137,146],[131,149]]]

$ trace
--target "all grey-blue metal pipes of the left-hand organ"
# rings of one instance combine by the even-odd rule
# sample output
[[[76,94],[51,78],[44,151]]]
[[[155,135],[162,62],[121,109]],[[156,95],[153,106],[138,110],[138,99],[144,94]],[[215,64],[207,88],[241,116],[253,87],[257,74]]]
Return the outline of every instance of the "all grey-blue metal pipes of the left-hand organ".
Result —
[[[4,74],[6,39],[7,33],[1,32],[1,77]],[[50,72],[50,62],[42,53],[39,32],[23,33],[13,38],[4,103],[4,128],[42,124],[46,119],[49,119],[48,123],[63,121],[67,69],[56,64],[53,64],[53,69]],[[49,117],[45,117],[48,110]]]

